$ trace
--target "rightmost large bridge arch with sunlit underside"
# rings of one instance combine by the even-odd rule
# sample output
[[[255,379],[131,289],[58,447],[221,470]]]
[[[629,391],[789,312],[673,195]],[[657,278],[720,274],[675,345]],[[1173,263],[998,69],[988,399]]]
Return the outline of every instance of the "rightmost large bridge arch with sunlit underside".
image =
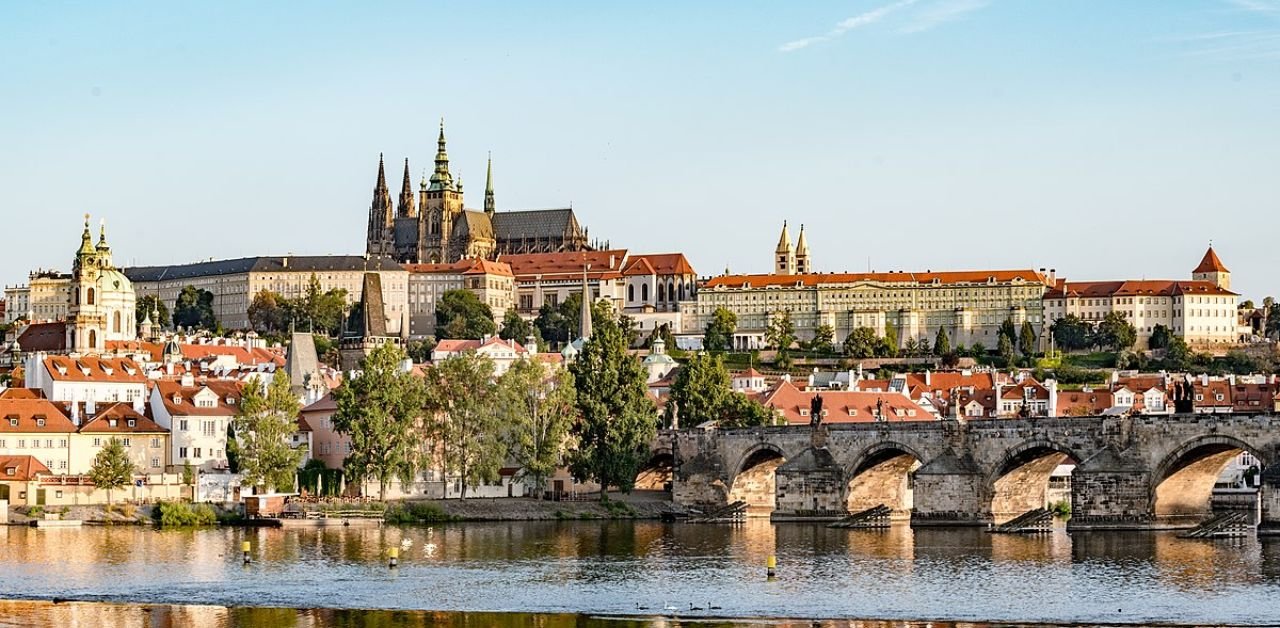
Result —
[[[1235,436],[1197,436],[1165,455],[1151,473],[1151,509],[1165,524],[1192,526],[1212,513],[1213,485],[1226,466],[1249,453],[1266,468],[1271,460]]]

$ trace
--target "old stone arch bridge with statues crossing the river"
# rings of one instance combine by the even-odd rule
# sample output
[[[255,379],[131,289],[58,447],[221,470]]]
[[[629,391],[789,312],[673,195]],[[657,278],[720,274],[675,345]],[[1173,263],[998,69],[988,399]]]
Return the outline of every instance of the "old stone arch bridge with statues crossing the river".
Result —
[[[662,432],[677,504],[736,500],[776,518],[878,504],[913,526],[987,526],[1047,505],[1073,464],[1071,530],[1192,527],[1248,451],[1262,469],[1260,532],[1280,532],[1280,417],[1181,414],[831,423]],[[1065,487],[1064,487],[1065,490]]]

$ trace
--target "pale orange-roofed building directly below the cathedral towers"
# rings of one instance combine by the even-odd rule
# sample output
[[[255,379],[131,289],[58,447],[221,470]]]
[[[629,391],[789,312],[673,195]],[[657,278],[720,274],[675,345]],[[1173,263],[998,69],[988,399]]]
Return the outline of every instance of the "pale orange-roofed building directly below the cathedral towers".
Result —
[[[516,304],[516,278],[506,262],[466,258],[452,263],[407,263],[408,335],[435,334],[435,306],[449,290],[470,290],[489,306],[494,322],[500,324]]]

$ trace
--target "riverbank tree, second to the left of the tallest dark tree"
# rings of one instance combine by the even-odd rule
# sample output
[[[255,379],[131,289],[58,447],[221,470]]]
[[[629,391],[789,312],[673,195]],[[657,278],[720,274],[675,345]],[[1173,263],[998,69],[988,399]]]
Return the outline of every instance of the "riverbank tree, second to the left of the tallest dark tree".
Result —
[[[462,478],[462,499],[468,486],[497,481],[506,451],[493,361],[474,350],[448,357],[428,373],[428,399],[444,468]]]

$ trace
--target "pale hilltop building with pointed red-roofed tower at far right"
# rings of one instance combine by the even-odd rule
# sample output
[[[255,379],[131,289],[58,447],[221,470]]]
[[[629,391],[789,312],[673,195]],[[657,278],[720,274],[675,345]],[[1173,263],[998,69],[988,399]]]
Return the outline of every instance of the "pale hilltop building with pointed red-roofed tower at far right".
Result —
[[[1138,331],[1138,349],[1148,347],[1157,326],[1164,326],[1193,348],[1221,349],[1252,333],[1238,322],[1239,295],[1230,287],[1231,272],[1210,247],[1192,271],[1190,280],[1056,279],[1044,293],[1044,320],[1048,326],[1074,315],[1097,324],[1108,313],[1117,312]]]

